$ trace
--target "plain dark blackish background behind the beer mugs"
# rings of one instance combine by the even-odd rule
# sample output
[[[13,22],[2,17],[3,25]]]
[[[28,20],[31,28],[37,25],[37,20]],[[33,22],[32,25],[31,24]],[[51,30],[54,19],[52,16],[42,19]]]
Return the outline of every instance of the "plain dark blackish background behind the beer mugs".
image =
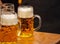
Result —
[[[17,0],[2,0],[3,3],[13,3],[17,12]],[[60,34],[60,1],[59,0],[23,0],[22,5],[34,7],[34,14],[39,14],[42,19],[41,29],[38,31]],[[38,21],[38,20],[37,20]],[[35,27],[37,22],[35,20]]]

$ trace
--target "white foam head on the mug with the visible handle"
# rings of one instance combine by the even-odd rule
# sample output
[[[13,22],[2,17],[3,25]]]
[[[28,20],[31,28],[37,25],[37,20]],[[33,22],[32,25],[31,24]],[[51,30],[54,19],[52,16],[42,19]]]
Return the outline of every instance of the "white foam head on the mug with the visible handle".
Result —
[[[33,7],[31,7],[31,6],[18,7],[18,17],[19,18],[33,17]]]

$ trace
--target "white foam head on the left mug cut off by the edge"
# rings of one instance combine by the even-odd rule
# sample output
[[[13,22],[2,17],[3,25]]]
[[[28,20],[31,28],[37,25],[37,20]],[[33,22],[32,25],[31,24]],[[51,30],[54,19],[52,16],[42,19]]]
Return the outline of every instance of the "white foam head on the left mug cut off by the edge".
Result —
[[[17,15],[1,15],[1,24],[2,25],[16,25],[18,23]]]

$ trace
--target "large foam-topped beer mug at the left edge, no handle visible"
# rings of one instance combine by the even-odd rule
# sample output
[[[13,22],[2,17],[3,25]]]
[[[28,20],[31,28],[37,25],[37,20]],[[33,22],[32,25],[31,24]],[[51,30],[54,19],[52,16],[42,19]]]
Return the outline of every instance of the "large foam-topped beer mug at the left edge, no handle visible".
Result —
[[[7,4],[2,7],[0,44],[17,44],[18,18]]]

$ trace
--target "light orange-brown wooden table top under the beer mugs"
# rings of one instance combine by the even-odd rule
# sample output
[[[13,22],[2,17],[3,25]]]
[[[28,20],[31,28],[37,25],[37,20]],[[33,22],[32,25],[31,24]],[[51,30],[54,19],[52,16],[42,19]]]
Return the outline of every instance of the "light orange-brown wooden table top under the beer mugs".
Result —
[[[20,38],[18,44],[56,44],[60,40],[60,34],[34,32],[30,38]]]

